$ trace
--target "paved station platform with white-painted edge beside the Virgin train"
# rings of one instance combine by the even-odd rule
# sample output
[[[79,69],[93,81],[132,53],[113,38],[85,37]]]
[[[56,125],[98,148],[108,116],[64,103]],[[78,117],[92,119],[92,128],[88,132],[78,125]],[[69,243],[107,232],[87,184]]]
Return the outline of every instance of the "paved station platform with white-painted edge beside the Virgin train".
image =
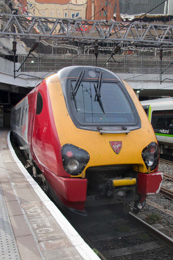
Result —
[[[0,259],[99,260],[17,158],[0,128]]]

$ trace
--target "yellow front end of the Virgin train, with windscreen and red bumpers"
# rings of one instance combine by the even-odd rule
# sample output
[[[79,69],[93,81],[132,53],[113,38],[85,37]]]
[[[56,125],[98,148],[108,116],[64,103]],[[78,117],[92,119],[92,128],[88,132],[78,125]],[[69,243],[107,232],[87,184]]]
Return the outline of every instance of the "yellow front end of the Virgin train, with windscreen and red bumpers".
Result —
[[[162,182],[163,174],[158,171],[157,140],[133,89],[115,78],[115,74],[103,70],[101,99],[99,93],[97,96],[102,70],[94,67],[75,70],[74,67],[69,71],[66,68],[66,74],[58,72],[52,84],[49,79],[62,164],[70,175],[70,178],[68,174],[63,177],[63,187],[69,187],[63,192],[63,203],[74,210],[84,210],[87,205],[114,203],[124,208],[133,207],[137,213],[145,205],[147,195],[159,192]],[[61,89],[57,88],[59,82],[64,97]],[[76,85],[78,88],[74,95]],[[59,110],[61,115],[56,112]],[[68,126],[65,131],[59,124],[62,118],[63,125]],[[115,118],[117,124],[111,121]],[[77,151],[85,154],[82,161]],[[72,201],[72,197],[85,197],[85,200]],[[134,206],[130,205],[131,202]]]

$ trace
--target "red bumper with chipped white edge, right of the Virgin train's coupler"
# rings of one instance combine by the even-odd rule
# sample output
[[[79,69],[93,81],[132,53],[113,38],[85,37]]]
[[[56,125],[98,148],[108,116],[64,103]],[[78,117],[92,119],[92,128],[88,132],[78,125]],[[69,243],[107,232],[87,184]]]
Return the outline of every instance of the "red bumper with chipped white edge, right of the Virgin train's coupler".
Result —
[[[140,195],[149,195],[159,193],[163,180],[163,173],[161,171],[147,173],[138,173],[138,187],[137,191]]]

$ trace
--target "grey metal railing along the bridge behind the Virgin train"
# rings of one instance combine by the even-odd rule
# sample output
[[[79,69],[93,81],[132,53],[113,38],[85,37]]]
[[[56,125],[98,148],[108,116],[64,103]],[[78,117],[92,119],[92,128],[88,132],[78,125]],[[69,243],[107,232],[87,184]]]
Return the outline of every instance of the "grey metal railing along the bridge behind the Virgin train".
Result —
[[[18,62],[22,63],[26,54],[18,55]],[[110,58],[110,55],[98,55],[97,67],[102,67]],[[162,58],[162,72],[164,74],[173,74],[173,57],[164,56]],[[160,74],[160,58],[158,56],[137,56],[137,55],[114,55],[104,68],[114,73],[153,73]],[[170,65],[169,65],[170,64]],[[68,66],[95,66],[95,55],[84,54],[35,54],[29,57],[23,66],[22,72],[57,72],[59,69]],[[168,66],[169,65],[169,66]]]

